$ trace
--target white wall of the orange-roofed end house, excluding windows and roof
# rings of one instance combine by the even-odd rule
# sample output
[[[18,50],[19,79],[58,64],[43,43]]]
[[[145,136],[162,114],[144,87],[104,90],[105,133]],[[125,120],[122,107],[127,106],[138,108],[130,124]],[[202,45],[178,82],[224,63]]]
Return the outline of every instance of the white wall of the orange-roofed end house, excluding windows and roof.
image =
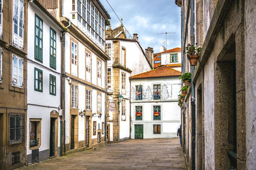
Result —
[[[136,100],[136,85],[142,85],[142,100]],[[161,99],[154,100],[154,85],[161,85]],[[144,139],[177,137],[180,126],[179,76],[133,79],[131,89],[131,138],[135,138],[135,125],[143,125]],[[142,120],[136,120],[136,106],[142,106]],[[154,106],[161,106],[161,120],[154,120]],[[154,134],[154,125],[161,125],[160,134]]]

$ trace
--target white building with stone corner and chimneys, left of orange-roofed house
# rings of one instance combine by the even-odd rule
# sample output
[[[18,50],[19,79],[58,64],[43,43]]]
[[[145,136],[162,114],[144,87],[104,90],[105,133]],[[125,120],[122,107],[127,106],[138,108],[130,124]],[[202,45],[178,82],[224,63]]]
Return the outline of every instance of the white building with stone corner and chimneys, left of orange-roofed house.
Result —
[[[138,36],[126,38],[122,25],[108,28],[106,52],[108,61],[108,141],[130,138],[130,83],[129,77],[152,69],[153,50],[146,55],[138,43]],[[123,100],[118,102],[118,98]]]

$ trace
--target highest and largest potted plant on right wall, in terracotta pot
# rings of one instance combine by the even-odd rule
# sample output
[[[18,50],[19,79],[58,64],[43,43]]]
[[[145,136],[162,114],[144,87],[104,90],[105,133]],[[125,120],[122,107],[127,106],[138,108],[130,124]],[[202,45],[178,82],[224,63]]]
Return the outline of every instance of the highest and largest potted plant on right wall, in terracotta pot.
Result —
[[[186,52],[188,55],[190,66],[196,66],[197,61],[200,57],[201,50],[202,50],[201,47],[197,47],[194,45],[188,44],[188,46],[186,46]]]

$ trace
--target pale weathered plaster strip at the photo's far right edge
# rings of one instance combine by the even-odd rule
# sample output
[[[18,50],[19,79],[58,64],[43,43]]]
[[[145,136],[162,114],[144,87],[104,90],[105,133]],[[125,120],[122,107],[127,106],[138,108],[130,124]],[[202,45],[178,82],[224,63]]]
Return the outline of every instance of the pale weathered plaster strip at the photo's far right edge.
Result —
[[[256,167],[256,3],[245,1],[246,167]]]

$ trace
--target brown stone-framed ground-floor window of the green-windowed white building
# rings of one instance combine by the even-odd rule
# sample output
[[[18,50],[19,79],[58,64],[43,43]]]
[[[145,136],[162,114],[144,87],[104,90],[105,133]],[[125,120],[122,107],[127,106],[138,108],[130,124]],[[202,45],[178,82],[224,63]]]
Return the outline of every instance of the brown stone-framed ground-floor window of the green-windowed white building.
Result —
[[[32,119],[29,122],[29,148],[39,146],[41,136],[41,120]]]

